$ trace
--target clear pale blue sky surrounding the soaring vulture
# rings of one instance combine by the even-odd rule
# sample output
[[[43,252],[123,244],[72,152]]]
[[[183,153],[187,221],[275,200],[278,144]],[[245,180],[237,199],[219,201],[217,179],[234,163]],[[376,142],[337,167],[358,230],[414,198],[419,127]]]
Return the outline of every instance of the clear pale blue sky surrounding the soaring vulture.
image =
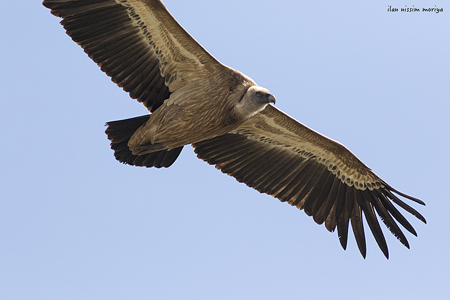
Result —
[[[276,106],[340,141],[412,203],[411,249],[384,230],[343,251],[303,211],[196,158],[116,161],[103,124],[146,109],[41,1],[0,18],[0,298],[442,299],[450,234],[450,5],[444,1],[166,0]],[[389,13],[388,6],[438,7]],[[384,228],[386,229],[386,228]]]

